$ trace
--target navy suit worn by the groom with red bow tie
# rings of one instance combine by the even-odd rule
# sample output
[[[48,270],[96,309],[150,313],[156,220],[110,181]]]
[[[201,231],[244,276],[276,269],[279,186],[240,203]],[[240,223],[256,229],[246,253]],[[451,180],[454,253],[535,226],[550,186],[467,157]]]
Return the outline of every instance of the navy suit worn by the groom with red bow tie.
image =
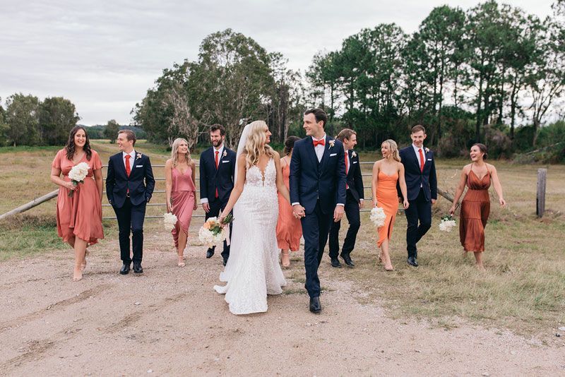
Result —
[[[310,136],[295,143],[290,160],[290,203],[299,203],[306,213],[301,220],[304,287],[310,297],[319,297],[318,266],[328,241],[333,212],[337,203],[345,205],[345,151],[339,140],[326,136],[320,161]]]

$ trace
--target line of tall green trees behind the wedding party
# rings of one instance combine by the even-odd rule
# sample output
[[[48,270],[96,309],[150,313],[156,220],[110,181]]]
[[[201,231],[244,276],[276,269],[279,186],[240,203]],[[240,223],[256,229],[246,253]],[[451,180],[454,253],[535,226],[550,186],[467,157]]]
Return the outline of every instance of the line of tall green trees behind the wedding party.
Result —
[[[302,112],[319,106],[328,132],[353,128],[361,148],[386,138],[408,143],[415,124],[448,157],[477,141],[494,155],[538,148],[565,89],[564,1],[553,8],[542,20],[494,0],[439,6],[411,35],[387,23],[347,37],[340,49],[317,53],[304,74],[250,37],[216,32],[196,61],[163,71],[133,109],[134,122],[157,143],[183,136],[193,148],[210,124],[223,124],[233,146],[247,121],[265,119],[282,143],[302,136]]]

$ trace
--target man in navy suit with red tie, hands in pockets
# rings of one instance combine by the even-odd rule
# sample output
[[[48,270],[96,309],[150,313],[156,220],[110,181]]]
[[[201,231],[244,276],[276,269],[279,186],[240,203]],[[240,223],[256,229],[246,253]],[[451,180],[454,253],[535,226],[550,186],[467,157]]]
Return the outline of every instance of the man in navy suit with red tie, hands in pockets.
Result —
[[[145,206],[155,188],[153,169],[148,155],[134,150],[136,134],[121,130],[116,140],[121,152],[110,157],[106,177],[106,196],[114,208],[119,227],[119,251],[123,263],[119,273],[127,275],[131,266],[129,235],[133,250],[133,273],[143,273],[143,220]]]

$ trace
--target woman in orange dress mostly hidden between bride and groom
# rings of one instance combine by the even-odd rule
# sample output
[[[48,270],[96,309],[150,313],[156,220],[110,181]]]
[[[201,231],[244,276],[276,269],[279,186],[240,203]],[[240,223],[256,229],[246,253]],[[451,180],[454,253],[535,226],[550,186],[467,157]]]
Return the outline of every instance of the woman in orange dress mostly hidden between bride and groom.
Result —
[[[290,158],[295,142],[300,140],[297,136],[289,136],[285,140],[285,157],[280,159],[280,167],[283,169],[283,181],[289,188]],[[280,249],[280,262],[283,267],[290,267],[290,251],[298,251],[300,248],[300,237],[302,237],[302,224],[300,219],[292,215],[292,206],[281,193],[278,193],[278,222],[277,242]]]

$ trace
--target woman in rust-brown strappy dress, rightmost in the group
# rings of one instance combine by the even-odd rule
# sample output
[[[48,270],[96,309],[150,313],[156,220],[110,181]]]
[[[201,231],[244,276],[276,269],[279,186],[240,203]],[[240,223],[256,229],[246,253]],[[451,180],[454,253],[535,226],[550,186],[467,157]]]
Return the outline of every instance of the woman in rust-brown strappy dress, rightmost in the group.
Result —
[[[475,253],[477,268],[484,270],[482,264],[482,253],[484,251],[484,227],[487,226],[490,212],[489,187],[491,182],[499,203],[504,208],[506,201],[502,196],[502,186],[496,168],[492,164],[484,162],[487,158],[487,147],[484,144],[474,144],[470,151],[471,163],[463,167],[461,178],[456,189],[453,205],[449,213],[453,215],[456,203],[468,187],[467,193],[461,202],[461,214],[459,221],[459,238],[465,253]]]

